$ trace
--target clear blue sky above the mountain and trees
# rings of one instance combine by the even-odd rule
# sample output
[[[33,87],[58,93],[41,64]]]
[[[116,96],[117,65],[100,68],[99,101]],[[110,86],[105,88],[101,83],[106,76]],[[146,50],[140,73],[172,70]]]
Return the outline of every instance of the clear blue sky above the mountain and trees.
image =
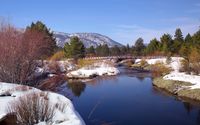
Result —
[[[200,0],[1,0],[0,17],[24,28],[41,20],[54,31],[96,32],[122,44],[200,26]]]

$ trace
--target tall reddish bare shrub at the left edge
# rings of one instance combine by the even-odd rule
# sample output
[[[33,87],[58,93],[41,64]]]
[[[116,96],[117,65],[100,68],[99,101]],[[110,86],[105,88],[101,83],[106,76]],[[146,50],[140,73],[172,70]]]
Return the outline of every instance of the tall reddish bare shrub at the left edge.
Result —
[[[0,25],[0,81],[26,84],[49,47],[46,35],[35,30],[18,31]]]

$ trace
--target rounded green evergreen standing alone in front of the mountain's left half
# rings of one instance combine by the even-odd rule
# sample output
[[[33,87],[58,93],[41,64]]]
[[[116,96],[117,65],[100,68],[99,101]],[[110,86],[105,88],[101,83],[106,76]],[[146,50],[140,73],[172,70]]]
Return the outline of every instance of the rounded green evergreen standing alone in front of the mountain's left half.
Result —
[[[72,37],[70,43],[64,46],[65,56],[67,58],[83,58],[85,57],[85,47],[78,37]]]

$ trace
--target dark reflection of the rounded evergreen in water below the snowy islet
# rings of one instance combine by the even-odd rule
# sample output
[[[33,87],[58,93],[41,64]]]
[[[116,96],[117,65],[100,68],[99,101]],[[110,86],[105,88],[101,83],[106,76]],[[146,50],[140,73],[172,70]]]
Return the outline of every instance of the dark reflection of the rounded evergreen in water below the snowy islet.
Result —
[[[68,82],[67,87],[72,90],[73,94],[77,97],[85,90],[86,85],[80,81]]]

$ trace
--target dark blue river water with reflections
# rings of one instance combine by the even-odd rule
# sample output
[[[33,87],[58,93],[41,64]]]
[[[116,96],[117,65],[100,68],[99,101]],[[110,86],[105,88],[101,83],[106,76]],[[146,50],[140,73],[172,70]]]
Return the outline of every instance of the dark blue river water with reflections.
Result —
[[[118,76],[58,88],[87,125],[200,125],[200,106],[153,87],[149,73],[121,69]]]

